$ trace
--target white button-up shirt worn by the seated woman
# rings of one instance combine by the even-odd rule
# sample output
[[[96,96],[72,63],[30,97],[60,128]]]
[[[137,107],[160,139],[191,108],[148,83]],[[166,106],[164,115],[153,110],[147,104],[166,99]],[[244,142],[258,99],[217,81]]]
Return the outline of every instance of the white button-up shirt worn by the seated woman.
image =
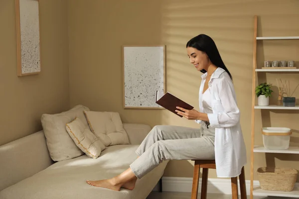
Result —
[[[207,73],[201,76],[199,112],[203,112],[202,91]],[[240,125],[240,110],[234,86],[228,73],[217,68],[209,81],[213,113],[207,113],[210,126],[215,127],[215,162],[219,178],[232,178],[241,174],[247,163],[246,146]],[[196,120],[200,123],[200,120]]]

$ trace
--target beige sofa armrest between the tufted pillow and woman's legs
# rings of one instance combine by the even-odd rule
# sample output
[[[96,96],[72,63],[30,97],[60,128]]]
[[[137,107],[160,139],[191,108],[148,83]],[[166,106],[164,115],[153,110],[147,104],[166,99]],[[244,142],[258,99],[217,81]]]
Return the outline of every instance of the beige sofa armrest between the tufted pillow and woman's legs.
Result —
[[[123,125],[129,136],[130,144],[141,144],[151,130],[147,124],[124,123]]]

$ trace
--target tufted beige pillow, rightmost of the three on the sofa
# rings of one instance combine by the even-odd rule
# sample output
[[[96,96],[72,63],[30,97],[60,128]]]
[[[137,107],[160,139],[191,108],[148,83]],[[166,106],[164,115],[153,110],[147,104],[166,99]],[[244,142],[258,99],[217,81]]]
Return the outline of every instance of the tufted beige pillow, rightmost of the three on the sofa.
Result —
[[[107,147],[118,144],[130,144],[118,112],[84,111],[91,131]]]

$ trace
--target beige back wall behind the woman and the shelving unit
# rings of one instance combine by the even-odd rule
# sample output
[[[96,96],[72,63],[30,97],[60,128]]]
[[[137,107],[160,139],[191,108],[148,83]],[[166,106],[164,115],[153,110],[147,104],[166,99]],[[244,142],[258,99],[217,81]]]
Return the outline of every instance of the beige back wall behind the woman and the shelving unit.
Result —
[[[195,122],[167,110],[123,108],[122,45],[165,44],[167,91],[198,109],[201,73],[196,73],[189,64],[185,43],[197,34],[208,34],[214,38],[234,78],[248,151],[246,179],[250,179],[253,16],[259,15],[258,36],[299,35],[299,2],[153,0],[124,3],[118,0],[105,1],[105,5],[103,2],[69,1],[70,105],[82,103],[93,110],[118,111],[123,122],[198,127]],[[259,41],[258,64],[261,66],[264,59],[291,59],[299,66],[298,52],[298,41]],[[258,79],[260,83],[266,80],[276,86],[277,77],[289,79],[292,90],[299,84],[298,74],[260,74]],[[274,91],[277,92],[277,88],[274,87]],[[299,98],[299,90],[294,96]],[[276,98],[277,93],[271,101],[275,102]],[[298,113],[298,110],[257,110],[255,143],[262,144],[262,126],[284,126],[294,129],[291,145],[299,146]],[[266,164],[299,169],[298,155],[260,153],[255,155],[255,160],[255,170]],[[192,162],[170,161],[164,175],[192,177],[192,174]],[[211,171],[209,177],[215,178],[215,171]]]

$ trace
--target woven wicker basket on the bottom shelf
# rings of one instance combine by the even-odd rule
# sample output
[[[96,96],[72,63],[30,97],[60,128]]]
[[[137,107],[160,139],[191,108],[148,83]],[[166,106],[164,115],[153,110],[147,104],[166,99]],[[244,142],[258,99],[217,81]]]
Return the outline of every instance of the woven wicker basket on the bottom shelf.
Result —
[[[262,190],[290,192],[294,189],[298,171],[292,168],[261,167],[257,173]]]

